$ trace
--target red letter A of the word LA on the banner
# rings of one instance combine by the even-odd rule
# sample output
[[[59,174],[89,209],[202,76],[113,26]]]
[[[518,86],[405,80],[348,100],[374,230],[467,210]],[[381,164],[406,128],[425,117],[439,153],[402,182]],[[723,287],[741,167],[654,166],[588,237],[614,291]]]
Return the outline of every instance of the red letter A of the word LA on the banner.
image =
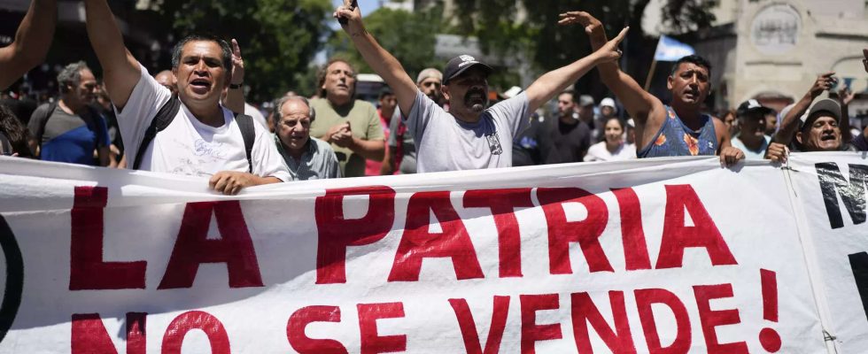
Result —
[[[220,239],[208,239],[211,214]],[[202,263],[226,263],[229,288],[261,287],[260,266],[238,201],[189,203],[157,289],[190,288]]]

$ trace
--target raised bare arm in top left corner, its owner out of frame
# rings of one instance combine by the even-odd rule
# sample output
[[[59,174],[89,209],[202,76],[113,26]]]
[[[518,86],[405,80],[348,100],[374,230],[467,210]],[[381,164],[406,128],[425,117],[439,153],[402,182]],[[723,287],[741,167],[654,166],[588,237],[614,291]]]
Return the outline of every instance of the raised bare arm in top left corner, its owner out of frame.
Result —
[[[15,32],[15,41],[0,48],[0,89],[6,89],[42,63],[58,22],[56,0],[34,0]]]

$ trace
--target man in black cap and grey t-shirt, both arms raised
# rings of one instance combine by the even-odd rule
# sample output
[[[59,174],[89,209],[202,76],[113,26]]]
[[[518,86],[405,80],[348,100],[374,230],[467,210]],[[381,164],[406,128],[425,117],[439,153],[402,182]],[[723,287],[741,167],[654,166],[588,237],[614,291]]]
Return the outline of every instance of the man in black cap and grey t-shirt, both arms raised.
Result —
[[[523,93],[490,108],[487,78],[492,67],[467,55],[453,58],[443,76],[446,112],[422,94],[398,60],[365,30],[357,6],[345,0],[334,16],[343,22],[362,58],[398,97],[402,119],[418,146],[419,173],[511,166],[513,137],[528,127],[531,113],[594,65],[620,58],[616,49],[626,34],[625,28],[601,50],[544,74]]]

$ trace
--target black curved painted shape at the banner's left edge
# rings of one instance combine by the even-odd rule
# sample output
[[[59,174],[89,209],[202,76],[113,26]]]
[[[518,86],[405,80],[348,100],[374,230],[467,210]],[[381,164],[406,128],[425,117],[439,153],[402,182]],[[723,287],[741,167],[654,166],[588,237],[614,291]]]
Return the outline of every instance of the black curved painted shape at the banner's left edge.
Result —
[[[6,258],[6,289],[3,304],[0,304],[0,342],[12,328],[15,315],[21,305],[21,292],[24,290],[24,258],[6,219],[0,216],[0,247]]]

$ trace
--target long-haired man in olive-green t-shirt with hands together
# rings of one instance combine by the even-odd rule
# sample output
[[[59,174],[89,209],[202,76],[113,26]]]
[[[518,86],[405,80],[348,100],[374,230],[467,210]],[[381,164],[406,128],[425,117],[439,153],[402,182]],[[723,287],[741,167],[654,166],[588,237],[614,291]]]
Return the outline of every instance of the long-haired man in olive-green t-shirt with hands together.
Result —
[[[365,160],[383,161],[385,135],[373,104],[355,99],[356,71],[332,58],[319,74],[319,96],[311,100],[317,118],[311,135],[331,143],[344,177],[365,175]]]

